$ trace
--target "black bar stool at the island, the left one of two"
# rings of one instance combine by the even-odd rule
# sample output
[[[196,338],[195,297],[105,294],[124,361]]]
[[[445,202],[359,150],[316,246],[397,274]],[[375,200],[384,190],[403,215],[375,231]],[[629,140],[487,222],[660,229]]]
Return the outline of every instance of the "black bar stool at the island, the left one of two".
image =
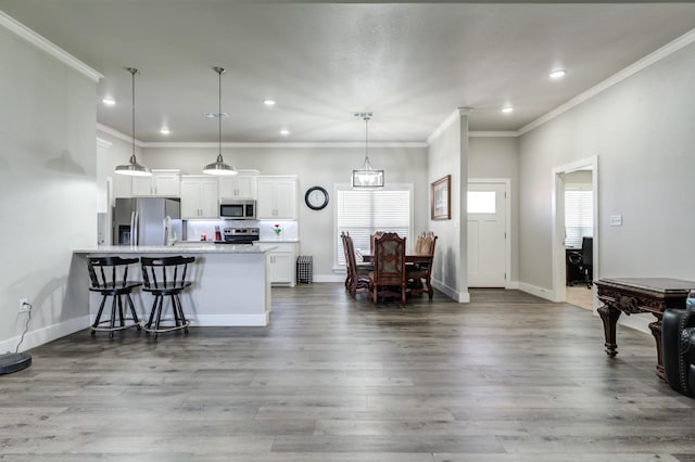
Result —
[[[93,337],[97,331],[109,332],[109,337],[113,338],[115,331],[122,331],[124,329],[140,328],[140,320],[138,313],[135,311],[132,305],[132,298],[130,294],[132,291],[142,283],[140,281],[128,281],[128,267],[137,264],[138,258],[121,258],[121,257],[93,257],[89,258],[88,270],[89,279],[91,280],[90,292],[98,292],[102,295],[101,305],[99,306],[99,312],[97,319],[91,325],[91,336]],[[101,315],[106,304],[106,298],[112,297],[111,301],[111,319],[101,320]],[[123,297],[126,298],[128,308],[130,309],[130,318],[126,318],[123,311]],[[117,312],[116,312],[117,307]],[[116,315],[118,316],[118,325],[116,325]],[[126,323],[130,321],[130,323]],[[109,324],[108,326],[101,326],[101,324]]]

